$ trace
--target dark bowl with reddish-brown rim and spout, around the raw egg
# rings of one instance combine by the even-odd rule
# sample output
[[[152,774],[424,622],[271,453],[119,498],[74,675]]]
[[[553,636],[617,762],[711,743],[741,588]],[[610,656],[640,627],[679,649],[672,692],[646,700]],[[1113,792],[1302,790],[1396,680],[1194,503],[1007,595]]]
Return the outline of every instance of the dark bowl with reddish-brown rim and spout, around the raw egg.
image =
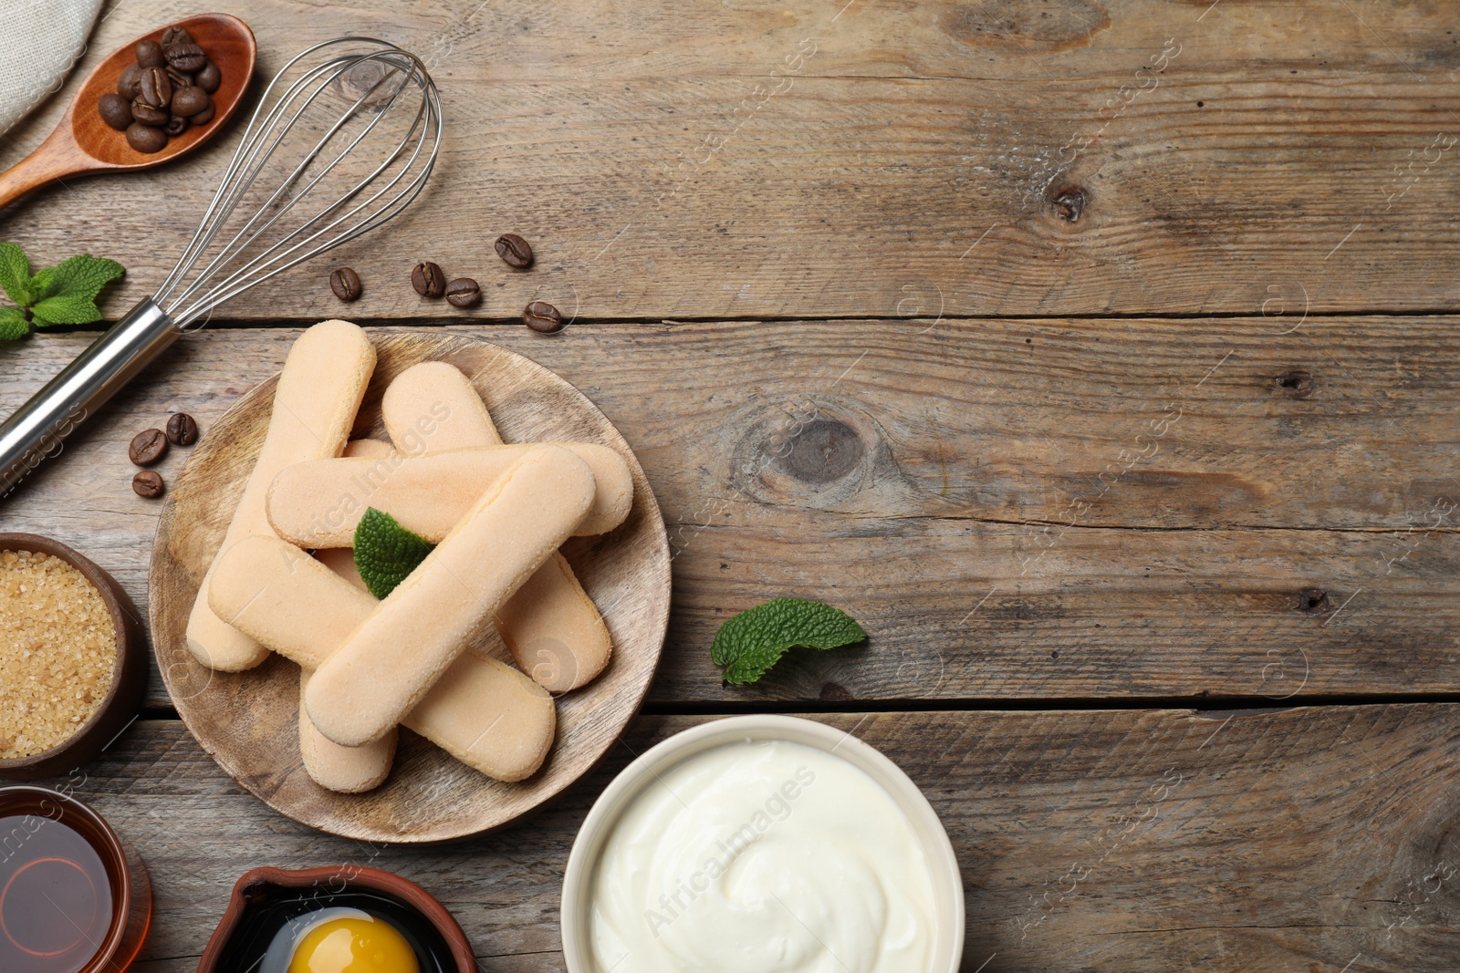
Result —
[[[461,926],[420,885],[378,868],[254,868],[234,885],[199,973],[286,973],[320,922],[359,916],[400,935],[419,973],[477,973]]]

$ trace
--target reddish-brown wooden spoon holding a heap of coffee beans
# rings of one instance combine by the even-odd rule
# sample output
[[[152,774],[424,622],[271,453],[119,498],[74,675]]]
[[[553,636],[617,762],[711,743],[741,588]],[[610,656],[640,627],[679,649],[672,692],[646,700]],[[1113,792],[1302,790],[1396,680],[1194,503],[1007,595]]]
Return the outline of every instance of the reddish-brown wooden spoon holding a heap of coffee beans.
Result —
[[[181,26],[193,35],[199,47],[207,53],[207,60],[218,64],[222,83],[213,92],[212,121],[204,125],[190,125],[181,136],[168,139],[166,147],[161,152],[145,155],[127,144],[126,133],[101,120],[96,102],[107,92],[117,90],[117,79],[123,69],[136,63],[137,41],[158,41],[168,26]],[[254,32],[247,23],[226,13],[204,13],[143,34],[114,51],[86,76],[61,124],[35,152],[6,172],[0,172],[0,206],[53,179],[83,172],[147,169],[197,149],[223,127],[244,99],[248,80],[254,76],[257,55]]]

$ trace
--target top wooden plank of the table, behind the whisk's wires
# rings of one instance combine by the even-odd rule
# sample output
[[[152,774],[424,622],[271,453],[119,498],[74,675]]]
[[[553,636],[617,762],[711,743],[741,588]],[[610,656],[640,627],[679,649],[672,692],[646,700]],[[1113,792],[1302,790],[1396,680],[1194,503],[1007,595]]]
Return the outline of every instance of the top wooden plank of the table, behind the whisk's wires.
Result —
[[[241,10],[261,76],[342,31],[323,9]],[[185,12],[111,6],[82,71]],[[361,273],[356,312],[381,321],[461,318],[418,301],[416,260],[477,277],[476,319],[531,298],[588,319],[1456,309],[1460,226],[1437,219],[1460,190],[1447,13],[358,0],[350,31],[432,67],[448,140],[390,236],[331,261]],[[0,165],[76,85],[7,136]],[[181,252],[229,149],[67,181],[0,214],[4,235],[44,263],[123,257],[117,317]],[[537,248],[533,273],[491,252],[507,230]],[[299,268],[228,314],[328,317],[327,273]]]

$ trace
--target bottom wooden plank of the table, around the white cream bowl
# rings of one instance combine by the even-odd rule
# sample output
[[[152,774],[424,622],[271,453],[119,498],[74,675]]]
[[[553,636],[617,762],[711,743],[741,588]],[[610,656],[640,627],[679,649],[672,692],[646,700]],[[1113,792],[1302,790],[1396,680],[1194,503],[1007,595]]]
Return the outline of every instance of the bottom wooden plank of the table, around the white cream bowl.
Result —
[[[1454,969],[1460,708],[818,716],[892,757],[948,827],[965,973]],[[311,831],[175,721],[70,783],[134,842],[156,915],[145,973],[184,973],[254,865],[374,865],[438,896],[483,973],[562,970],[577,829],[634,753],[698,718],[641,716],[561,801],[496,834],[390,848]]]

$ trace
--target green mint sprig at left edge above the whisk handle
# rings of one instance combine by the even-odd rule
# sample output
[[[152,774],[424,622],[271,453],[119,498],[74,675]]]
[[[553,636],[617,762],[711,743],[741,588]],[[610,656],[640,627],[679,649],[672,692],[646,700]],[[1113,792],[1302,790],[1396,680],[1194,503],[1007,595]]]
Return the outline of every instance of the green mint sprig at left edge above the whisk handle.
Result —
[[[0,341],[23,338],[32,325],[101,321],[96,295],[124,273],[115,260],[80,254],[32,274],[18,244],[0,244],[0,289],[20,305],[0,308]]]

